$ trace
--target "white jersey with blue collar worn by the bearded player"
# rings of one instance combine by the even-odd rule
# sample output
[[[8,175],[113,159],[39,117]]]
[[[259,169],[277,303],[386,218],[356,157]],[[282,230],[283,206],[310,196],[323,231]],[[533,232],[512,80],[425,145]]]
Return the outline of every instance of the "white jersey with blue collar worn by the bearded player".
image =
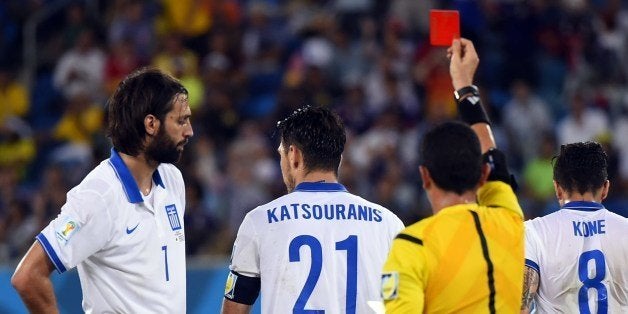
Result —
[[[181,172],[161,164],[144,199],[118,153],[74,187],[37,236],[59,273],[77,267],[86,313],[185,313]]]

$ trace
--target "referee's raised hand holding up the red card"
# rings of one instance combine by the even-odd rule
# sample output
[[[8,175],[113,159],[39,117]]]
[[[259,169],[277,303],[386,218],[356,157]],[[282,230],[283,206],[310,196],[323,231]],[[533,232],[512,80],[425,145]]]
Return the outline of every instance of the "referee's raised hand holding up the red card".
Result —
[[[447,57],[451,60],[449,75],[454,90],[473,84],[473,75],[480,63],[473,43],[464,38],[454,39],[451,47],[447,49]]]

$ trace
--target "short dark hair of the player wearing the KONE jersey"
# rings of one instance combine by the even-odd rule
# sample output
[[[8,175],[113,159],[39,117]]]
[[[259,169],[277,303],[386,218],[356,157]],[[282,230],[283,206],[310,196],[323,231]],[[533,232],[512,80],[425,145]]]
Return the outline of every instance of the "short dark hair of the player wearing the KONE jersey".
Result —
[[[608,179],[608,156],[596,142],[561,145],[552,163],[554,181],[567,193],[595,192]]]

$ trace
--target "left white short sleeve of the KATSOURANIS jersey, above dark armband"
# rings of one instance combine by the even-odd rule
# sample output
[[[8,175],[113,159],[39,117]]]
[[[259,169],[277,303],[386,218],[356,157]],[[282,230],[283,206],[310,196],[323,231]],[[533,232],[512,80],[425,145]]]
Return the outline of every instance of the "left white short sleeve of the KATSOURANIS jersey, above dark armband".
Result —
[[[260,276],[258,238],[253,219],[247,214],[233,244],[229,269],[247,277]]]

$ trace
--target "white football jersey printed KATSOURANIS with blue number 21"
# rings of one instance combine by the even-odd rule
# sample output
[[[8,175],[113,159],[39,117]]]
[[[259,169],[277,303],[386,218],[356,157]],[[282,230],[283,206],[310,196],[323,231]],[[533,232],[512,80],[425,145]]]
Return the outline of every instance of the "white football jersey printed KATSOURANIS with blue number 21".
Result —
[[[261,278],[263,313],[372,313],[401,229],[395,214],[341,184],[305,182],[246,215],[230,269]],[[230,278],[227,296],[234,285]]]

